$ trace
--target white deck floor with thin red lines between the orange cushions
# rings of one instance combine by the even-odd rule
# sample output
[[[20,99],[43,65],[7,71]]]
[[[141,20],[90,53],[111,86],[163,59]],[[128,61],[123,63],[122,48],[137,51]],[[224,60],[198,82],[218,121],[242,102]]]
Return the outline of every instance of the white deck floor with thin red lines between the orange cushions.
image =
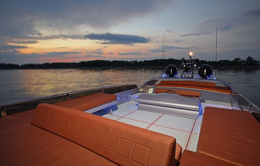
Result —
[[[182,150],[197,151],[198,139],[201,129],[202,117],[198,119],[138,110],[137,102],[129,101],[118,105],[113,115],[106,114],[104,117],[128,123],[147,130],[163,133],[176,138]],[[212,103],[202,103],[202,108],[216,106]],[[227,106],[223,106],[227,108]]]

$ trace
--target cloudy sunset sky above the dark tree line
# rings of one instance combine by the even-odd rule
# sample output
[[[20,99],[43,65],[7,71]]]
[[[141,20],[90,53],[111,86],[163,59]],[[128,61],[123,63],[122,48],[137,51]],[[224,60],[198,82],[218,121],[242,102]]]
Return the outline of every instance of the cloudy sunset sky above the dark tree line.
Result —
[[[260,60],[259,0],[1,0],[0,63]]]

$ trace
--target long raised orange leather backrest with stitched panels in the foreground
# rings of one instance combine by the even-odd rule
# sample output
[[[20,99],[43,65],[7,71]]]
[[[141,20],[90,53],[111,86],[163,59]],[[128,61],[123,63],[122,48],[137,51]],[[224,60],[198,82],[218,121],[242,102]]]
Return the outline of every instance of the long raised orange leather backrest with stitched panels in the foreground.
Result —
[[[40,104],[31,123],[119,165],[175,165],[176,139],[50,104]]]

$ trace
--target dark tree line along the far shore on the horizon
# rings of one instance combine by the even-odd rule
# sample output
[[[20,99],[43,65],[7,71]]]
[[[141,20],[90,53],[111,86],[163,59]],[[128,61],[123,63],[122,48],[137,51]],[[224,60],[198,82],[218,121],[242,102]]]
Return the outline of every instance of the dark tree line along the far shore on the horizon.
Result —
[[[92,68],[92,67],[166,67],[169,64],[174,64],[177,67],[181,66],[181,60],[178,59],[154,59],[144,61],[108,61],[108,60],[93,60],[82,62],[55,62],[43,64],[5,64],[0,63],[0,69],[67,69],[67,68]],[[200,60],[199,65],[209,64],[215,66],[260,66],[260,62],[252,57],[247,57],[245,60],[235,58],[234,60],[219,60],[215,61]]]

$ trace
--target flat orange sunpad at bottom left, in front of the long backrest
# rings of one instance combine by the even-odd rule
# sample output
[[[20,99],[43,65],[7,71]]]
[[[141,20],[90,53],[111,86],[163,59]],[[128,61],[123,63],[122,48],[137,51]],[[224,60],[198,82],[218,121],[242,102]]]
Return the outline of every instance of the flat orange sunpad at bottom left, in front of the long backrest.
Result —
[[[31,125],[35,111],[0,118],[0,165],[116,165],[72,141]]]

